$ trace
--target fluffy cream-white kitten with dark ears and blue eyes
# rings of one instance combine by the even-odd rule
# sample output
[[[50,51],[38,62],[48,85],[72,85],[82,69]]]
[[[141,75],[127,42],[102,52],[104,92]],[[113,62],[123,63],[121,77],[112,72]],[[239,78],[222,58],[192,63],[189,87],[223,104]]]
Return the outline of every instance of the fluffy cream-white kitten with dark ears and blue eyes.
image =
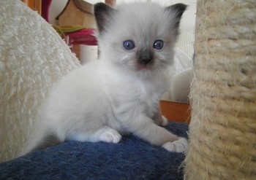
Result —
[[[51,141],[118,143],[127,133],[184,152],[187,140],[159,126],[167,125],[159,100],[170,88],[173,44],[186,7],[136,3],[113,9],[96,4],[100,58],[53,88],[28,152]]]

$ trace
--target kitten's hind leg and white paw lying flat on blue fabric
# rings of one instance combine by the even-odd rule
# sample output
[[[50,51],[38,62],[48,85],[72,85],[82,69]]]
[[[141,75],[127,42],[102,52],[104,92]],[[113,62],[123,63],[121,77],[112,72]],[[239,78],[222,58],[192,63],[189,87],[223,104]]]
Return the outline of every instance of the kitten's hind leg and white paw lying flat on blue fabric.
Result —
[[[95,131],[94,133],[75,133],[72,137],[69,137],[69,140],[73,141],[90,141],[90,142],[97,142],[97,141],[104,141],[108,143],[118,143],[121,140],[121,135],[118,133],[117,130],[105,126],[100,128],[99,130]]]

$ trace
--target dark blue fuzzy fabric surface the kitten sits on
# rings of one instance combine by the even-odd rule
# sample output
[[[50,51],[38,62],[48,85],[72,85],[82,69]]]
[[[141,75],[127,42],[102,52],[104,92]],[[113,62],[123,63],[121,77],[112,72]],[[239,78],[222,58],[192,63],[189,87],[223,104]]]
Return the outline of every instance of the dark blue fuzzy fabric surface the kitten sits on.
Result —
[[[187,137],[187,124],[166,128]],[[183,160],[135,136],[118,144],[69,141],[1,163],[0,179],[183,179]]]

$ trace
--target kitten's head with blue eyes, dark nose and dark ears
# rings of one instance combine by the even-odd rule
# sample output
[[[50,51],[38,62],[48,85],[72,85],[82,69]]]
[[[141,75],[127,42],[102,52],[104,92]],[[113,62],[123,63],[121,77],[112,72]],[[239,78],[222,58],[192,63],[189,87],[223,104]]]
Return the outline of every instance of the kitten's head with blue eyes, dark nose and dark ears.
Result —
[[[100,53],[124,71],[146,76],[173,65],[173,44],[184,4],[121,4],[116,9],[94,6]]]

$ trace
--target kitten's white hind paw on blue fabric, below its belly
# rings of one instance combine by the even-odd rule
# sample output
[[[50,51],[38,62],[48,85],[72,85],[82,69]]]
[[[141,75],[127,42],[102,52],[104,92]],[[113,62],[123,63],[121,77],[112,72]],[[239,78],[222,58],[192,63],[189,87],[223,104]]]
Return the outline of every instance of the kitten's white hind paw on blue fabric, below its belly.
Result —
[[[118,143],[121,140],[121,135],[113,128],[105,127],[102,128],[99,133],[99,141],[107,143]]]

